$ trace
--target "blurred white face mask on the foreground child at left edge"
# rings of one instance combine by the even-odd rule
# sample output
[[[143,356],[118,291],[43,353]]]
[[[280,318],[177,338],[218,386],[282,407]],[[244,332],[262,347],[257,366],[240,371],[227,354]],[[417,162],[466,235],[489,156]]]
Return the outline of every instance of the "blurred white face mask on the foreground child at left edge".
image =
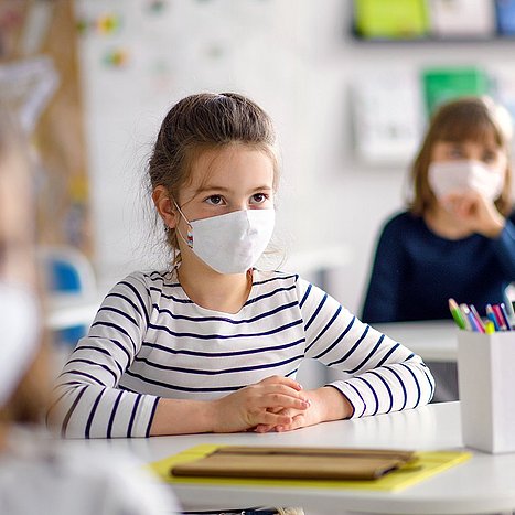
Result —
[[[39,310],[26,289],[0,282],[0,406],[29,368],[39,345]]]

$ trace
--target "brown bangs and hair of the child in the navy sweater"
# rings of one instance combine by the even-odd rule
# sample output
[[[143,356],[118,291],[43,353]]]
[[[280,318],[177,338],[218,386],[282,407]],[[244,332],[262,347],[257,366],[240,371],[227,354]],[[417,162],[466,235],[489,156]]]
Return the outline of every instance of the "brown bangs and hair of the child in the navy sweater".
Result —
[[[410,213],[422,216],[436,202],[428,181],[428,169],[434,143],[484,141],[489,136],[494,137],[500,149],[506,152],[508,158],[503,191],[495,201],[498,212],[507,216],[513,208],[509,162],[512,120],[507,110],[490,97],[460,98],[442,105],[436,111],[411,168],[409,182],[412,199],[408,202]]]

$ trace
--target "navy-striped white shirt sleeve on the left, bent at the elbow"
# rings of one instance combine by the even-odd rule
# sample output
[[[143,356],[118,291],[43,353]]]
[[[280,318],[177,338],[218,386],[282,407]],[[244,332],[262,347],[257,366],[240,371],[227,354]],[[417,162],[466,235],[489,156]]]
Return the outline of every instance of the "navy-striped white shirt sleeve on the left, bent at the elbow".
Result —
[[[57,379],[49,421],[67,438],[146,437],[159,398],[119,387],[151,313],[143,278],[127,277],[105,298]]]

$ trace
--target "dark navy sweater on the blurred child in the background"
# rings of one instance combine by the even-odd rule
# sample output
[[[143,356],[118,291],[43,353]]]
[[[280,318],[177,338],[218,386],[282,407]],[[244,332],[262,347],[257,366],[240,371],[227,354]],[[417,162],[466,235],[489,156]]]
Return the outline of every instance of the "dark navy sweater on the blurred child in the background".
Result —
[[[446,239],[422,217],[400,213],[380,235],[362,320],[368,323],[449,319],[448,300],[503,302],[515,281],[515,212],[495,239],[474,234]]]

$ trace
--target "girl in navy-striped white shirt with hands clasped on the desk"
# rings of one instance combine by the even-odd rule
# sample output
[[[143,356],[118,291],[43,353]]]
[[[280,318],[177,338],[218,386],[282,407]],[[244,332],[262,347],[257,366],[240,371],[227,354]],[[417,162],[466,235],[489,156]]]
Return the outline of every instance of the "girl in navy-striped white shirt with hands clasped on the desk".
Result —
[[[289,431],[429,403],[419,356],[297,275],[255,268],[278,169],[270,118],[248,98],[172,107],[148,168],[171,265],[107,294],[60,376],[63,436]],[[303,390],[309,357],[343,378]]]

